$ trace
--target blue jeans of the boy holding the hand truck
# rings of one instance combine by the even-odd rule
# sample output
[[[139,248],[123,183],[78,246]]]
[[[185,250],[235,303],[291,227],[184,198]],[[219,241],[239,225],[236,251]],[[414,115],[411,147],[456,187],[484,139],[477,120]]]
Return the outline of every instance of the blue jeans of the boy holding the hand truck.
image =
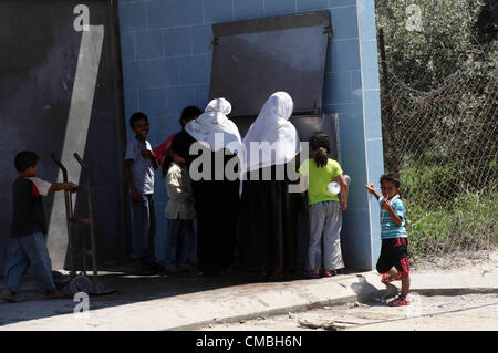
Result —
[[[49,249],[46,249],[45,238],[41,232],[10,239],[3,274],[7,288],[17,292],[30,264],[38,284],[43,290],[55,288],[52,278],[52,261]]]

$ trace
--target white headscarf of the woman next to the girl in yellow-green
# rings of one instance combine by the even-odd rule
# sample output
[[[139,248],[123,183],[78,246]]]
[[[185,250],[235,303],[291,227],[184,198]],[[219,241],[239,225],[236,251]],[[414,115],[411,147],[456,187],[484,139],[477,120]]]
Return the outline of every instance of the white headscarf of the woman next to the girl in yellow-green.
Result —
[[[298,131],[289,122],[293,106],[291,96],[286,92],[273,93],[267,100],[242,141],[247,156],[246,170],[288,163],[301,150]],[[274,150],[251,156],[251,142],[268,142]]]

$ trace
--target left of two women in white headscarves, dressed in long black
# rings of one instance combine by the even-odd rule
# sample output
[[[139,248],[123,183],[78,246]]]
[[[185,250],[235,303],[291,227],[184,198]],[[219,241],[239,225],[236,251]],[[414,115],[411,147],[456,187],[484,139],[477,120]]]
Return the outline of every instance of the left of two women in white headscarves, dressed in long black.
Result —
[[[232,158],[238,163],[236,154],[240,152],[242,141],[237,126],[227,117],[230,112],[231,105],[227,100],[212,100],[205,113],[188,123],[172,142],[173,150],[186,160],[188,167],[200,160],[196,160],[197,157],[210,156],[210,165],[190,168],[198,220],[197,259],[204,274],[227,270],[234,261],[239,180],[227,178],[225,168],[228,163],[234,165]],[[203,147],[194,148],[197,153],[190,155],[189,149],[195,143]],[[217,165],[216,160],[221,160],[222,165]],[[209,167],[210,173],[201,173]],[[221,167],[224,170],[216,170]],[[200,173],[200,179],[193,175],[196,170]]]

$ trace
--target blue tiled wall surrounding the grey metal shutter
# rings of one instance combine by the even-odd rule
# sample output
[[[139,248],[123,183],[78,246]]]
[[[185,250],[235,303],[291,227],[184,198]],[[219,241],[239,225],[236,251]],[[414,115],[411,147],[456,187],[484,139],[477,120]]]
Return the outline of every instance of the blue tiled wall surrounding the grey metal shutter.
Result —
[[[187,105],[208,103],[211,24],[329,9],[324,111],[338,113],[341,165],[352,177],[344,214],[344,261],[374,268],[380,252],[378,206],[367,181],[383,173],[378,65],[373,0],[120,0],[126,120],[135,111],[151,117],[148,139],[157,146],[179,129]],[[128,128],[128,138],[133,135]],[[157,257],[164,258],[167,195],[156,174]]]

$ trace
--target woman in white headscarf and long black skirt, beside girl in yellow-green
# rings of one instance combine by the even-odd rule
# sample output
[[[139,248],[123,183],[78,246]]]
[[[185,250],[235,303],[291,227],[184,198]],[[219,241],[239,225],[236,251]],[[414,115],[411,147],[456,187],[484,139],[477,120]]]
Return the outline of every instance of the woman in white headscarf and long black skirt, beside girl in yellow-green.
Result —
[[[288,167],[300,152],[295,127],[289,122],[293,102],[286,92],[273,93],[249,128],[243,144],[246,165],[241,187],[238,260],[246,270],[281,278],[295,270],[295,212],[289,194]],[[271,146],[262,154],[257,144]],[[283,172],[279,177],[277,170]],[[269,179],[263,179],[270,176]]]

